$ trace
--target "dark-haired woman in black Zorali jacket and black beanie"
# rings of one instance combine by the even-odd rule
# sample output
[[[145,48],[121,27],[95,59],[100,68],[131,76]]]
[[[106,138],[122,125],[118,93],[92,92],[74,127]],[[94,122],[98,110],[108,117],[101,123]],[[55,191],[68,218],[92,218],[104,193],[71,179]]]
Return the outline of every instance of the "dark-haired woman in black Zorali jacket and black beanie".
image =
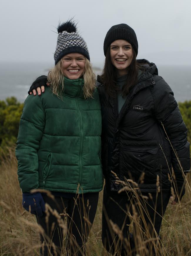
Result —
[[[155,64],[136,61],[138,41],[131,27],[111,27],[104,54],[103,74],[98,77],[105,177],[103,245],[112,254],[160,255],[159,231],[171,187],[175,201],[180,200],[190,170],[187,129]],[[133,238],[132,216],[137,218]]]

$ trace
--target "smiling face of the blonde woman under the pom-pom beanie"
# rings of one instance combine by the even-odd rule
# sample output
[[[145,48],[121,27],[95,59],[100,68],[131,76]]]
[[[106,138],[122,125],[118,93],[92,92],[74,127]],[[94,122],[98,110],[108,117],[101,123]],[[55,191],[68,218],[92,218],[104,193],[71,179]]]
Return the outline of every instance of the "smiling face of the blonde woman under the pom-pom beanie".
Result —
[[[85,70],[85,57],[80,53],[69,53],[62,58],[63,75],[69,79],[78,79]]]

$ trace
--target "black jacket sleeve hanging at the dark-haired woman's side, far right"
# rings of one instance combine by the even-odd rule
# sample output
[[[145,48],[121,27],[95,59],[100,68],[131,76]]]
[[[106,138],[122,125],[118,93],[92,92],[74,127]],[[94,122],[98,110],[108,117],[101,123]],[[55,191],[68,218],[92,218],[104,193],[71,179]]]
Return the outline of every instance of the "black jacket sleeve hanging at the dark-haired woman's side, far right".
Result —
[[[187,128],[182,120],[178,104],[169,85],[160,79],[153,88],[154,115],[165,130],[171,144],[172,167],[175,173],[175,186],[180,195],[184,185],[183,171],[190,170],[190,143],[187,141]],[[184,194],[184,189],[182,195]]]

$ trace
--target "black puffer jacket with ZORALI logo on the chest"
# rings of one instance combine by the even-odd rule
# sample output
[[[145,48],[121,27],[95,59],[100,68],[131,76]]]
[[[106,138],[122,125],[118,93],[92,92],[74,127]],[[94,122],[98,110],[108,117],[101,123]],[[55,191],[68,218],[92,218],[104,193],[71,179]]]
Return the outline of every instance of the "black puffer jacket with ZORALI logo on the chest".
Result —
[[[169,191],[168,174],[171,176],[173,167],[180,193],[184,178],[174,150],[183,170],[189,170],[187,128],[173,92],[158,76],[155,64],[147,62],[146,71],[131,89],[120,113],[117,97],[109,97],[101,84],[98,88],[102,106],[102,164],[106,187],[112,191],[121,188],[116,184],[113,171],[120,180],[124,177],[133,179],[142,192],[156,192],[159,175],[160,189]],[[144,183],[140,182],[143,172]]]

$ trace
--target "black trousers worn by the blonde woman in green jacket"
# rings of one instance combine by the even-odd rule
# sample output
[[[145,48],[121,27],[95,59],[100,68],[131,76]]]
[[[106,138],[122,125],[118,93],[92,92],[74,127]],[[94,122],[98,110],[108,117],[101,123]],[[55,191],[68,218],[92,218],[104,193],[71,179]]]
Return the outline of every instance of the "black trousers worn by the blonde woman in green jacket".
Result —
[[[48,197],[43,194],[49,206],[42,217],[36,216],[44,232],[40,233],[41,255],[62,255],[63,233],[66,227],[66,250],[68,255],[84,255],[86,241],[93,224],[99,193],[85,193],[76,198]],[[60,215],[61,214],[61,215]]]

